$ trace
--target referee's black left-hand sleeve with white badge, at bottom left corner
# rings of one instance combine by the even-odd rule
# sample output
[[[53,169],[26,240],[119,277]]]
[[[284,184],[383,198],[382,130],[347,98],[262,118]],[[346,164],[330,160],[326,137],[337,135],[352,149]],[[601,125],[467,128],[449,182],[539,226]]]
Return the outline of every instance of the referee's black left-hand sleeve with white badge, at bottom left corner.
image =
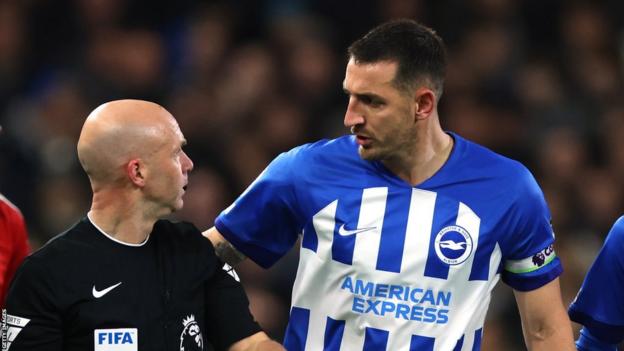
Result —
[[[6,331],[11,351],[61,350],[62,320],[45,268],[27,258],[7,296]]]

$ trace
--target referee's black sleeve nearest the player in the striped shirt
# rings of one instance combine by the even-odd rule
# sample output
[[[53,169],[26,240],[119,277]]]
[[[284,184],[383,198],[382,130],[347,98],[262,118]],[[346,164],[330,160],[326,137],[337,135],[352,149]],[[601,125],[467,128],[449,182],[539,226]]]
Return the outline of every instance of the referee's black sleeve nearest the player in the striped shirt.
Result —
[[[249,311],[249,300],[236,272],[216,260],[218,267],[206,288],[208,338],[215,350],[227,350],[233,343],[262,331]],[[222,268],[224,267],[224,268]]]

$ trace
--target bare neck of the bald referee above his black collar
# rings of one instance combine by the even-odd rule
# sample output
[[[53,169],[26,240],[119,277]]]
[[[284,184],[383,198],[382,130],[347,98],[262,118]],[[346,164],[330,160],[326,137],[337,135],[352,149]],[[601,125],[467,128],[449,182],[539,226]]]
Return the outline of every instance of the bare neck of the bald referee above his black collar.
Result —
[[[108,199],[108,194],[96,193],[93,195],[89,218],[102,231],[116,240],[128,244],[145,242],[152,232],[155,218],[147,218],[137,206],[136,201],[116,197]]]

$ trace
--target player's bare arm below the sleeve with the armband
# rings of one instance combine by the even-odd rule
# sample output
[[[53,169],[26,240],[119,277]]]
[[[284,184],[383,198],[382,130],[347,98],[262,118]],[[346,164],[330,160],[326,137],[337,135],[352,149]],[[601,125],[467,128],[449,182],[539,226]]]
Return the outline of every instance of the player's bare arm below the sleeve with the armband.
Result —
[[[514,290],[529,350],[576,350],[560,291],[559,278],[536,290]]]

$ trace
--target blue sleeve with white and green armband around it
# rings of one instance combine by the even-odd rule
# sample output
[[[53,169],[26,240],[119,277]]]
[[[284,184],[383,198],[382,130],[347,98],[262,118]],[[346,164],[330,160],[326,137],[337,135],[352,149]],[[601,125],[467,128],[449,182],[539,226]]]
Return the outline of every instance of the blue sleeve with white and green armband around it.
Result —
[[[516,290],[535,290],[563,272],[554,249],[550,211],[535,178],[524,166],[510,190],[514,201],[502,223],[508,234],[501,242],[502,279]]]

